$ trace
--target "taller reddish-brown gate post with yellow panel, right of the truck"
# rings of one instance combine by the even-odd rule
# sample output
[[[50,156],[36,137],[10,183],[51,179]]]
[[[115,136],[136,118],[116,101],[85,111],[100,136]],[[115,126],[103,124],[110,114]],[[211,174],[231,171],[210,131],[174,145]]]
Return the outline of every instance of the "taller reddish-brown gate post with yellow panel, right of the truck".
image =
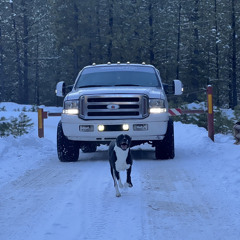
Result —
[[[211,85],[207,87],[208,100],[208,137],[214,142],[214,114],[213,114],[213,89]]]

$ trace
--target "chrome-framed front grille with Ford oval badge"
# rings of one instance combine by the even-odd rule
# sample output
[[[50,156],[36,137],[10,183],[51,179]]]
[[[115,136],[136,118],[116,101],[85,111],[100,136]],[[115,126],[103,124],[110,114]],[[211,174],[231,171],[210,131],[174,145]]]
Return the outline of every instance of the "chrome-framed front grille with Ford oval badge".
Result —
[[[80,118],[141,119],[148,116],[148,97],[138,94],[85,95],[80,97]]]

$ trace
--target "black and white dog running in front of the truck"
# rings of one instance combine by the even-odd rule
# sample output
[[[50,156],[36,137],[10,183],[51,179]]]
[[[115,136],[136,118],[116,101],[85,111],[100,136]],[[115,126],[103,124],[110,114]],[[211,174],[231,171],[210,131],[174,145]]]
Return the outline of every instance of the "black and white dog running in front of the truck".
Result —
[[[119,188],[123,187],[120,178],[120,171],[127,170],[126,186],[132,187],[131,170],[132,170],[132,156],[130,151],[131,137],[121,134],[112,141],[109,145],[109,163],[111,167],[111,174],[116,189],[116,197],[120,197]]]

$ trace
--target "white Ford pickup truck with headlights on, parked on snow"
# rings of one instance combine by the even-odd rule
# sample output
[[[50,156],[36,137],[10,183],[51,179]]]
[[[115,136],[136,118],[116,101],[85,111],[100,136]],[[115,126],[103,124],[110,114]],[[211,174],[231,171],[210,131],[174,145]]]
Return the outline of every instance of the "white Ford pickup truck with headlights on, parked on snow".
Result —
[[[171,88],[171,91],[169,89]],[[59,82],[57,96],[65,96]],[[182,83],[164,85],[159,71],[146,64],[93,64],[78,74],[65,96],[57,128],[60,161],[77,161],[79,149],[95,152],[120,134],[132,138],[132,146],[149,143],[156,159],[172,159],[173,121],[168,114],[166,94],[182,94]]]

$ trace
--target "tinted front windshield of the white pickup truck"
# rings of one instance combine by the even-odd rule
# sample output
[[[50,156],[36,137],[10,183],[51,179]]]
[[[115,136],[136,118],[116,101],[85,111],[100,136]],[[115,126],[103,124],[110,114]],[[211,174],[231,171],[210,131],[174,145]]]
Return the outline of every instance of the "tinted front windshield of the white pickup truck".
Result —
[[[75,88],[98,86],[160,87],[154,68],[142,66],[101,66],[83,69]]]

